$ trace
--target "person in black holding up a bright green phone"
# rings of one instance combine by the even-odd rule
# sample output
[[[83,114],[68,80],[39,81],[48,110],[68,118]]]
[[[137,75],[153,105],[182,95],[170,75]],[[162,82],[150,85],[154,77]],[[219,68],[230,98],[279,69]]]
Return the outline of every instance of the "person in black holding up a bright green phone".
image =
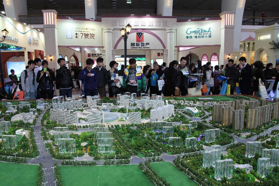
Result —
[[[48,68],[47,60],[42,61],[42,70],[37,73],[38,90],[43,99],[52,99],[54,94],[55,75],[52,69]]]

